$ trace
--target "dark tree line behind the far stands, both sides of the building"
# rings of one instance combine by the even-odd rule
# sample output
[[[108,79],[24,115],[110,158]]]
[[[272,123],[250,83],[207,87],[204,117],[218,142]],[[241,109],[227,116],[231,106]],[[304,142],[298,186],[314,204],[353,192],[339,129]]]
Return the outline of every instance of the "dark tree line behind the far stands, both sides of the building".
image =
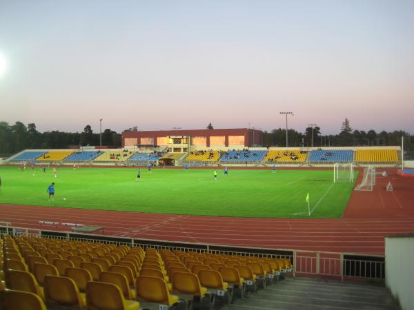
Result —
[[[211,129],[213,125],[208,124]],[[134,131],[128,129],[126,131]],[[393,132],[375,130],[353,130],[348,118],[342,123],[339,134],[323,135],[321,127],[306,127],[304,133],[288,130],[290,147],[314,146],[387,146],[401,145],[404,136],[404,149],[414,155],[414,136],[402,130]],[[100,145],[99,133],[92,132],[90,125],[86,125],[82,132],[59,132],[58,130],[39,132],[34,123],[27,126],[21,122],[9,125],[0,121],[0,155],[8,156],[23,149],[66,149],[71,146]],[[102,132],[102,145],[121,147],[121,134],[109,128]],[[282,128],[264,132],[264,146],[286,146],[286,130]]]

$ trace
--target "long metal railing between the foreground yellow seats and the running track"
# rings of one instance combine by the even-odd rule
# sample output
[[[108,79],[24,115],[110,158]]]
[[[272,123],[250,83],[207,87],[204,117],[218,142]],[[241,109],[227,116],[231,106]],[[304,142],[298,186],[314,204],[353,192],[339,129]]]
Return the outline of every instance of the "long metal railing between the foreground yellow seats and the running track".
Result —
[[[172,242],[163,240],[137,239],[97,234],[80,234],[72,231],[53,231],[12,227],[9,223],[0,223],[0,235],[40,236],[43,238],[100,242],[108,245],[126,245],[128,247],[153,248],[170,251],[195,251],[210,254],[228,254],[257,258],[286,258],[293,265],[293,276],[325,276],[338,280],[366,279],[384,280],[384,256],[337,253],[328,251],[306,251],[295,249],[268,249],[257,247],[232,247],[207,243]]]

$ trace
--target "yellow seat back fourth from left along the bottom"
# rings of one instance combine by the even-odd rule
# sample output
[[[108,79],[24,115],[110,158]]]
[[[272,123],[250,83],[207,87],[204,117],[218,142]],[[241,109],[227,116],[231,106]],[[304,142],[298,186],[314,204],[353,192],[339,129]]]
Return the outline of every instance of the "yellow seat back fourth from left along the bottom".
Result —
[[[168,304],[170,292],[164,279],[139,276],[135,282],[135,292],[137,299],[141,298],[148,302],[159,302]]]

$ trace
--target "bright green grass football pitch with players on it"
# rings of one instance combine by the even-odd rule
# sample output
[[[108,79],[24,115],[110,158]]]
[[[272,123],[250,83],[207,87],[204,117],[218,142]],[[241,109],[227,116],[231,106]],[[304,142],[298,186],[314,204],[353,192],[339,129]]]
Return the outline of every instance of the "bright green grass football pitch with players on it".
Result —
[[[0,167],[0,203],[205,216],[311,218],[342,216],[353,183],[333,183],[333,170],[137,169],[61,167],[33,172]],[[357,172],[355,172],[354,180]],[[47,188],[55,182],[56,197]]]

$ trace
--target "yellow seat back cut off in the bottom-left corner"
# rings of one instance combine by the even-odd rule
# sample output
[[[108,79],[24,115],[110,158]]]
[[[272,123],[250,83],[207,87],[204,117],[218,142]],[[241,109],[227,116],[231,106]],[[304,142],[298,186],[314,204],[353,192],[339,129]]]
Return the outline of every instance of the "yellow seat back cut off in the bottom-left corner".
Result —
[[[13,289],[0,292],[0,304],[3,304],[1,309],[4,310],[47,310],[43,300],[35,293]]]

